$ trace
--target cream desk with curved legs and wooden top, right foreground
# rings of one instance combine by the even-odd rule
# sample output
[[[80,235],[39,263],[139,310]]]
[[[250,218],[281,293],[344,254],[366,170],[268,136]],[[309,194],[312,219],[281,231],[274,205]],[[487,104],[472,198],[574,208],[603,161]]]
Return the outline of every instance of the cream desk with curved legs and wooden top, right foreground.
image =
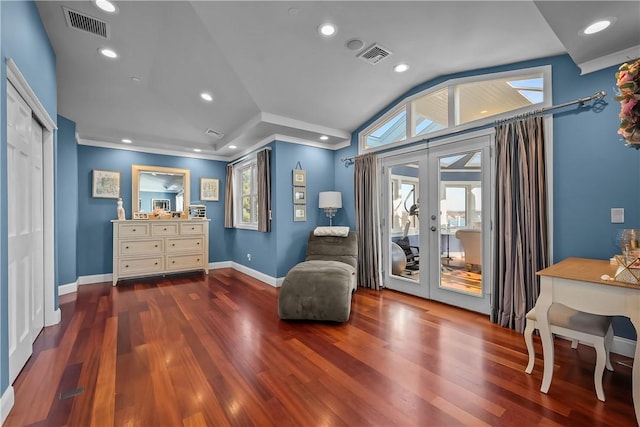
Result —
[[[540,296],[536,302],[537,325],[544,353],[544,373],[540,391],[546,393],[553,378],[554,349],[549,330],[548,311],[558,302],[587,313],[626,316],[640,334],[640,285],[604,281],[604,274],[614,277],[616,266],[609,261],[567,258],[539,271]],[[640,424],[640,346],[632,370],[633,404],[636,421]]]

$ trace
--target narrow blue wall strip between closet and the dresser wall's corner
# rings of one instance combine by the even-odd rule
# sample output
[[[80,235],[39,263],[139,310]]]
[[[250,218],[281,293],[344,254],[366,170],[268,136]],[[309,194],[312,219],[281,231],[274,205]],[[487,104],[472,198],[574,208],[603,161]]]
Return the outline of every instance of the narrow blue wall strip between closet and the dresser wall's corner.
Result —
[[[76,124],[58,116],[58,144],[55,156],[55,247],[56,286],[75,283],[78,278],[78,144]]]

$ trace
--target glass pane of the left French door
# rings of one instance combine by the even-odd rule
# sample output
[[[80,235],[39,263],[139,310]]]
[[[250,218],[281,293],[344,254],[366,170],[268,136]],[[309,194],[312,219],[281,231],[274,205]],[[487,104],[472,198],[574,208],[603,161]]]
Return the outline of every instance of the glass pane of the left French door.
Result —
[[[418,164],[393,166],[391,173],[391,274],[420,281],[420,183]]]

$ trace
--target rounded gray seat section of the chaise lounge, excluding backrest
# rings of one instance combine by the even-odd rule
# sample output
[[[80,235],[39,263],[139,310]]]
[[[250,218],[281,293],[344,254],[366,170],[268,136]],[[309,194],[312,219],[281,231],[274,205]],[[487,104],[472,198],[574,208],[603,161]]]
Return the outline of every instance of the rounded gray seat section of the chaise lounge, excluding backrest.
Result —
[[[305,261],[293,267],[278,294],[281,319],[346,322],[356,270],[340,261]]]

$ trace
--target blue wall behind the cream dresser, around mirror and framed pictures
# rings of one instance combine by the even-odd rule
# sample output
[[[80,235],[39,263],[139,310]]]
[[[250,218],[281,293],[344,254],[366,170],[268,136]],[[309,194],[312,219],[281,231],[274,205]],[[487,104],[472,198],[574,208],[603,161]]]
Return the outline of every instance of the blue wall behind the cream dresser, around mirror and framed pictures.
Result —
[[[119,171],[120,196],[127,219],[131,219],[131,166],[148,165],[189,169],[191,171],[191,203],[207,207],[209,223],[209,262],[229,259],[227,248],[221,244],[224,236],[224,197],[219,202],[200,202],[200,178],[218,178],[220,188],[226,182],[226,163],[188,157],[165,156],[136,151],[78,146],[78,276],[108,274],[113,270],[113,228],[116,219],[116,200],[91,197],[93,169]]]

